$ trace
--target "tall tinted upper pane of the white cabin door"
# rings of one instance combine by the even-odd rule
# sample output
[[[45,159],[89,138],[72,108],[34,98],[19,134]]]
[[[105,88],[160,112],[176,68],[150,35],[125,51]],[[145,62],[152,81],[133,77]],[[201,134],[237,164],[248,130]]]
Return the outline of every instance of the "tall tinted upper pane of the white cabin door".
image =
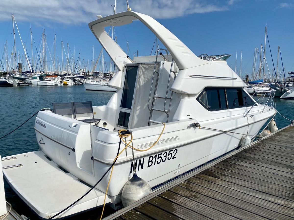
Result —
[[[133,95],[136,84],[138,66],[127,67],[125,84],[123,86],[123,95],[121,99],[121,108],[131,109]]]

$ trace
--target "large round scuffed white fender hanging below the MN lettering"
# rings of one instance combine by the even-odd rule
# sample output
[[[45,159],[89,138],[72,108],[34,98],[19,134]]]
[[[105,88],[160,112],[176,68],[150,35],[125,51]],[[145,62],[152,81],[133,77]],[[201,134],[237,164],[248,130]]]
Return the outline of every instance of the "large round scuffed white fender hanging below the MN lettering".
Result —
[[[123,187],[121,202],[123,203],[123,207],[127,207],[151,193],[152,189],[150,185],[134,173],[133,177]]]

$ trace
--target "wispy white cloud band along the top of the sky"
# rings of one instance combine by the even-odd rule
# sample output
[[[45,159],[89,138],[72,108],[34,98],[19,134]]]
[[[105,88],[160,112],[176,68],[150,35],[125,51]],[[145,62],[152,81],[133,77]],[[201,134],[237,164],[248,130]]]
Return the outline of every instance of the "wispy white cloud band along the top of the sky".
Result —
[[[175,18],[193,13],[228,10],[228,5],[218,1],[200,0],[130,0],[133,11],[148,14],[153,18]],[[35,23],[57,22],[64,24],[88,23],[97,14],[112,14],[114,0],[1,0],[0,21],[10,19]],[[126,1],[117,0],[116,12],[126,11]]]

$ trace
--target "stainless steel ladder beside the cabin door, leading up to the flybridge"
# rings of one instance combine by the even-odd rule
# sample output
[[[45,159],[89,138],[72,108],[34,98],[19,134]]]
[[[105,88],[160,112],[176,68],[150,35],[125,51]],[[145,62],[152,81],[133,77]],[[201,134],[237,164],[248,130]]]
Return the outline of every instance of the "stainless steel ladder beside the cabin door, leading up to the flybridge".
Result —
[[[167,84],[167,87],[166,87],[166,95],[165,95],[165,97],[155,95],[156,92],[157,92],[158,79],[159,79],[159,73],[156,72],[155,70],[156,70],[156,63],[157,63],[157,58],[158,58],[158,52],[160,50],[166,51],[166,58],[163,56],[162,53],[160,53],[160,55],[163,57],[163,59],[165,61],[167,61],[167,57],[168,57],[168,51],[166,49],[159,48],[157,50],[156,59],[155,59],[155,65],[154,65],[154,70],[153,70],[153,77],[152,77],[152,82],[151,82],[151,88],[150,88],[150,93],[149,93],[149,99],[148,99],[148,103],[147,103],[147,107],[148,107],[148,109],[150,111],[148,125],[150,125],[151,122],[152,123],[156,123],[156,124],[161,124],[162,123],[160,121],[151,120],[153,111],[162,111],[162,112],[164,112],[167,115],[166,122],[168,122],[168,116],[169,116],[169,112],[170,112],[170,109],[171,109],[171,99],[173,98],[173,91],[171,91],[171,97],[167,97],[167,95],[168,95],[168,87],[169,87],[170,80],[171,80],[171,72],[173,72],[173,74],[174,74],[174,80],[176,79],[176,72],[172,71],[172,68],[173,68],[173,59],[171,60],[171,69],[169,71],[168,84]],[[153,95],[153,98],[152,98],[152,105],[151,105],[151,108],[149,108],[149,102],[150,102],[150,98],[151,98],[151,92],[152,92],[152,86],[153,86],[153,79],[154,79],[155,73],[157,74],[157,76],[156,76],[156,84],[155,84],[155,89],[154,89],[154,95]],[[154,108],[155,99],[164,99],[163,109],[156,109],[156,108]],[[166,110],[166,100],[167,99],[170,99],[168,110]]]

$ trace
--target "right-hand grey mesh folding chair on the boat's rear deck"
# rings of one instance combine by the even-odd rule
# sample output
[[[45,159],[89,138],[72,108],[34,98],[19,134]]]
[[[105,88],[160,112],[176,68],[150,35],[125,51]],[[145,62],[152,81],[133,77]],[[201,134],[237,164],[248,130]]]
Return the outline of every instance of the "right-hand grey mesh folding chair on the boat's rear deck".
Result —
[[[78,115],[78,114],[92,113],[93,118],[79,120],[79,121],[82,121],[82,122],[95,123],[95,125],[97,126],[97,124],[101,121],[101,119],[95,119],[94,118],[92,101],[78,101],[78,102],[74,102],[74,113],[76,115]]]

